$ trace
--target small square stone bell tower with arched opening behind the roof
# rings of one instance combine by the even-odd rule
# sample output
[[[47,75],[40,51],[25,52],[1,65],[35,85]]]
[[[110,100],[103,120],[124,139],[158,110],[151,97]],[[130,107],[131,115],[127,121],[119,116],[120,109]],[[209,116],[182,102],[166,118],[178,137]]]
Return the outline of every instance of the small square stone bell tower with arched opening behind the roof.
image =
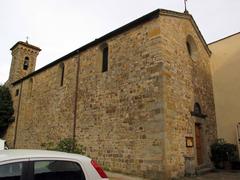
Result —
[[[12,63],[8,78],[13,83],[35,71],[36,60],[41,49],[26,42],[19,41],[11,49]]]

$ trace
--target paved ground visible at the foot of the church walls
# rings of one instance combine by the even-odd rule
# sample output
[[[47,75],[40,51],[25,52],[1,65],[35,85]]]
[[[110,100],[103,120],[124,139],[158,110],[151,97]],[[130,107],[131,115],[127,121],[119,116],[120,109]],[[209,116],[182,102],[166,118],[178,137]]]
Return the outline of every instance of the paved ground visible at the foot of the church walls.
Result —
[[[146,180],[138,177],[107,172],[110,180]],[[196,177],[184,177],[181,180],[240,180],[240,171],[216,171]]]

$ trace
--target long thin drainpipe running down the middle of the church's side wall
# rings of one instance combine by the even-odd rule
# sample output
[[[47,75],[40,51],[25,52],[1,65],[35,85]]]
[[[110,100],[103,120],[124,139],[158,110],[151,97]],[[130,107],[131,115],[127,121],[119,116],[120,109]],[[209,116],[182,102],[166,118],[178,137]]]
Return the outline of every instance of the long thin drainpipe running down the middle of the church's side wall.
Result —
[[[80,71],[80,54],[79,54],[79,51],[78,51],[75,99],[74,99],[74,110],[73,110],[73,141],[74,141],[73,149],[75,148],[75,140],[76,140],[76,121],[77,121],[77,100],[78,100],[79,71]]]

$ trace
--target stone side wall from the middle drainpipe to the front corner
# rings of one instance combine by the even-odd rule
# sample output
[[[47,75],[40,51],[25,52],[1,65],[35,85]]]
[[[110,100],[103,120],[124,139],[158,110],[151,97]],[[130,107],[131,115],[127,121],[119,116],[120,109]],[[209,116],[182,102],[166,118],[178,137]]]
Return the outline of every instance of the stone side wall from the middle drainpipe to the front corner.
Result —
[[[107,41],[108,72],[93,70],[98,47],[80,55],[77,140],[113,171],[148,177],[159,177],[162,171],[163,63],[158,22]]]

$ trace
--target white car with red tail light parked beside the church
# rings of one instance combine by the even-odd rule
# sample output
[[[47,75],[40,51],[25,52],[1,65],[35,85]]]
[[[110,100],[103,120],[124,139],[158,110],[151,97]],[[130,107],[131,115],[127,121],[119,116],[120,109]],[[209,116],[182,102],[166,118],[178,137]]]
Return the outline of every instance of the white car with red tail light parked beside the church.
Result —
[[[90,158],[45,150],[0,150],[0,180],[108,180]]]

